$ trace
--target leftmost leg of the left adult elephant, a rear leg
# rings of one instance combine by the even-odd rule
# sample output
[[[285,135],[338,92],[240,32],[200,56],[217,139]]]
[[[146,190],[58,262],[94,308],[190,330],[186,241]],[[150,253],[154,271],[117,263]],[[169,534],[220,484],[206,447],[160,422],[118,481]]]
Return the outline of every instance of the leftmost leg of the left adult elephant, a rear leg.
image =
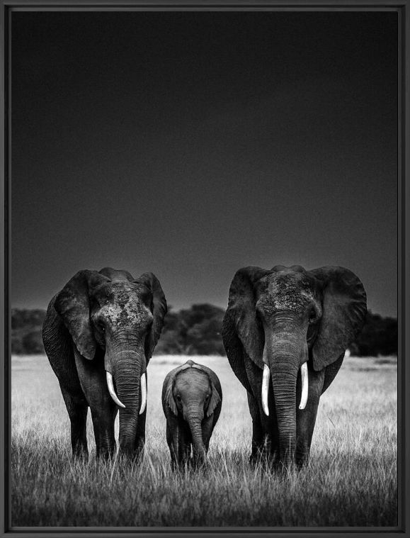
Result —
[[[71,440],[73,457],[88,459],[89,449],[87,447],[87,412],[89,405],[84,394],[69,393],[67,388],[60,384],[62,397],[66,405],[71,422]]]

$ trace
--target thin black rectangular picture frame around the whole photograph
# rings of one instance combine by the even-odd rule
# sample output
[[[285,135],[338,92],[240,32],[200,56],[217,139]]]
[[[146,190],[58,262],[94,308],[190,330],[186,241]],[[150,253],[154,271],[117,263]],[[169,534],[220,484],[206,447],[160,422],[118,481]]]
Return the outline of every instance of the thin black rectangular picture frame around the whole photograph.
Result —
[[[176,11],[176,10],[234,10],[234,11],[253,11],[253,10],[298,10],[298,11],[326,11],[326,10],[360,10],[360,11],[397,11],[399,17],[398,35],[399,35],[399,130],[397,133],[399,160],[398,160],[398,188],[399,188],[399,204],[398,204],[398,223],[399,223],[399,361],[398,361],[398,401],[399,401],[399,525],[394,528],[370,528],[351,527],[345,529],[343,527],[319,527],[319,528],[302,528],[286,527],[283,529],[269,529],[266,527],[217,527],[217,528],[191,528],[191,527],[161,527],[129,529],[115,527],[76,527],[69,529],[67,527],[19,527],[13,529],[9,526],[10,522],[10,474],[8,470],[8,461],[10,459],[10,442],[11,442],[11,420],[10,420],[10,398],[11,398],[11,380],[10,380],[10,354],[11,354],[11,305],[10,296],[8,293],[11,274],[10,274],[10,259],[11,259],[11,230],[10,230],[10,214],[11,207],[11,189],[12,175],[10,169],[11,155],[11,59],[10,59],[10,33],[11,33],[11,12],[20,10],[83,10],[98,11],[118,11],[118,10],[157,10],[157,11]],[[351,537],[358,537],[362,534],[378,534],[382,533],[385,536],[391,537],[396,534],[409,536],[409,515],[406,509],[407,492],[409,491],[410,477],[410,461],[409,461],[409,446],[410,446],[410,428],[409,428],[409,392],[410,373],[409,373],[409,319],[410,319],[410,301],[409,301],[409,203],[410,203],[410,182],[409,182],[409,139],[410,139],[410,80],[409,80],[409,65],[410,65],[410,17],[409,5],[406,0],[379,0],[379,1],[360,1],[352,4],[347,1],[337,0],[290,0],[275,1],[275,0],[119,0],[105,1],[93,0],[79,1],[74,0],[67,2],[65,0],[2,0],[0,11],[0,41],[2,54],[2,77],[1,77],[1,96],[3,107],[1,109],[1,121],[3,125],[4,143],[0,149],[0,159],[2,162],[2,171],[4,181],[1,182],[1,211],[2,220],[4,222],[4,258],[1,259],[1,281],[2,289],[2,309],[1,314],[4,318],[4,323],[1,324],[1,337],[4,341],[4,354],[1,354],[1,371],[4,373],[4,398],[1,398],[1,427],[4,439],[0,447],[0,491],[1,491],[1,510],[0,510],[0,529],[1,534],[13,534],[16,537],[30,536],[31,534],[40,535],[63,535],[68,537],[100,537],[107,538],[118,536],[118,534],[130,534],[139,537],[149,536],[152,538],[162,536],[178,536],[198,534],[203,537],[210,537],[217,534],[223,534],[230,538],[234,536],[242,536],[251,534],[252,536],[262,537],[267,535],[275,535],[277,537],[285,536],[304,536],[306,538],[319,535],[336,537],[344,536],[345,534]]]

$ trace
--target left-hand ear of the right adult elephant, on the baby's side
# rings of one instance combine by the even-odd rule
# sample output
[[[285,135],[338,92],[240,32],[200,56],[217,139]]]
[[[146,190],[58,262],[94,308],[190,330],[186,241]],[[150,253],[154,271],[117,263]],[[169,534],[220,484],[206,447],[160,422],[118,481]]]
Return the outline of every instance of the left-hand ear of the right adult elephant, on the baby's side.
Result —
[[[263,368],[262,353],[265,337],[256,319],[254,288],[256,282],[269,273],[271,271],[261,269],[261,267],[243,267],[237,271],[229,288],[228,308],[224,319],[224,327],[233,325],[246,354],[260,368]],[[224,342],[231,340],[226,329],[224,332]],[[228,349],[227,353],[229,353]]]

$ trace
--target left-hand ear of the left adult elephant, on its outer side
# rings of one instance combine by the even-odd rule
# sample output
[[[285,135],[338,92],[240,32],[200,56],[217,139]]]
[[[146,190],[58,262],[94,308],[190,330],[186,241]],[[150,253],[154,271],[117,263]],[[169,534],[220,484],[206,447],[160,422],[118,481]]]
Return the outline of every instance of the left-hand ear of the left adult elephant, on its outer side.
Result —
[[[55,299],[54,308],[62,317],[76,348],[89,360],[94,358],[97,346],[90,321],[89,291],[107,281],[109,279],[98,271],[84,269],[67,282]]]

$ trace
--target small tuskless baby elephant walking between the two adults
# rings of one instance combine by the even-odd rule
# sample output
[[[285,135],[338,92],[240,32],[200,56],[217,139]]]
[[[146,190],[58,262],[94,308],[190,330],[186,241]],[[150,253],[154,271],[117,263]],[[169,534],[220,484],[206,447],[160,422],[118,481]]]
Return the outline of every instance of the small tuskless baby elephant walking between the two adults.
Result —
[[[188,463],[191,444],[193,463],[205,464],[221,407],[220,380],[210,368],[189,360],[169,372],[162,386],[162,408],[173,466]]]

